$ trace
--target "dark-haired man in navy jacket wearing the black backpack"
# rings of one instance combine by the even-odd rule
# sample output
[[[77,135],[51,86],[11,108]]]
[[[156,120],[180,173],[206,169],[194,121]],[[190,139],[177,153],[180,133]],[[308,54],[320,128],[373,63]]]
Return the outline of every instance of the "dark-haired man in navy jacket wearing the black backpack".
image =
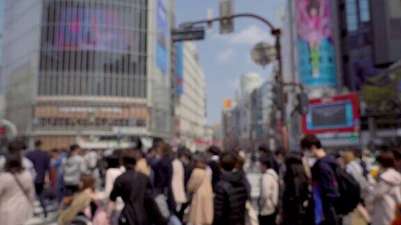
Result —
[[[336,159],[327,155],[320,140],[315,135],[306,135],[301,140],[301,148],[306,151],[306,155],[311,153],[317,158],[312,167],[315,224],[341,224],[335,210],[336,201],[340,197],[336,174],[333,171],[333,168],[337,167]]]

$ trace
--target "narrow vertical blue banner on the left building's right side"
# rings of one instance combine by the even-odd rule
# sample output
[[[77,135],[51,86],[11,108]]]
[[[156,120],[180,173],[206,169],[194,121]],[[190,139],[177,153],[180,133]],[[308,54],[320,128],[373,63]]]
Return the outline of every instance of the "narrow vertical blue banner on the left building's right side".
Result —
[[[167,10],[164,3],[157,1],[157,30],[156,30],[156,64],[164,74],[167,73],[168,67],[168,18]]]

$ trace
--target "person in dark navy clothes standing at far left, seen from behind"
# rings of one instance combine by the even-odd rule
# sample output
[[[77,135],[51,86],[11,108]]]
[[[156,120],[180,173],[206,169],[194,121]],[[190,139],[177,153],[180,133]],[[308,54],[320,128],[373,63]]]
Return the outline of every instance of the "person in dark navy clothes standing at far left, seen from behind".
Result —
[[[26,158],[31,160],[33,167],[36,171],[35,178],[35,190],[36,195],[42,194],[43,188],[45,187],[45,176],[49,172],[50,167],[50,156],[42,150],[42,141],[36,140],[35,150],[30,151],[26,154]]]

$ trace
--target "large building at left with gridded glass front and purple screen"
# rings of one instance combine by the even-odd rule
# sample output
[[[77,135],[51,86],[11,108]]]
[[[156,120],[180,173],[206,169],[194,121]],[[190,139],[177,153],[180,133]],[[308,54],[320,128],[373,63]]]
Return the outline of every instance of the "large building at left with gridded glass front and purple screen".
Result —
[[[1,91],[46,147],[171,138],[173,1],[6,0]]]

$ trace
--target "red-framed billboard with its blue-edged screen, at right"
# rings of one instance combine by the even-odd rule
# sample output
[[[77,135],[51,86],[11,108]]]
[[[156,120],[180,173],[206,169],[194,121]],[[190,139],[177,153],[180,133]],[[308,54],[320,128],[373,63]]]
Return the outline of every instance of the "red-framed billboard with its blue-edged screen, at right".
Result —
[[[303,133],[354,132],[359,126],[359,99],[356,94],[311,99],[302,118]]]

